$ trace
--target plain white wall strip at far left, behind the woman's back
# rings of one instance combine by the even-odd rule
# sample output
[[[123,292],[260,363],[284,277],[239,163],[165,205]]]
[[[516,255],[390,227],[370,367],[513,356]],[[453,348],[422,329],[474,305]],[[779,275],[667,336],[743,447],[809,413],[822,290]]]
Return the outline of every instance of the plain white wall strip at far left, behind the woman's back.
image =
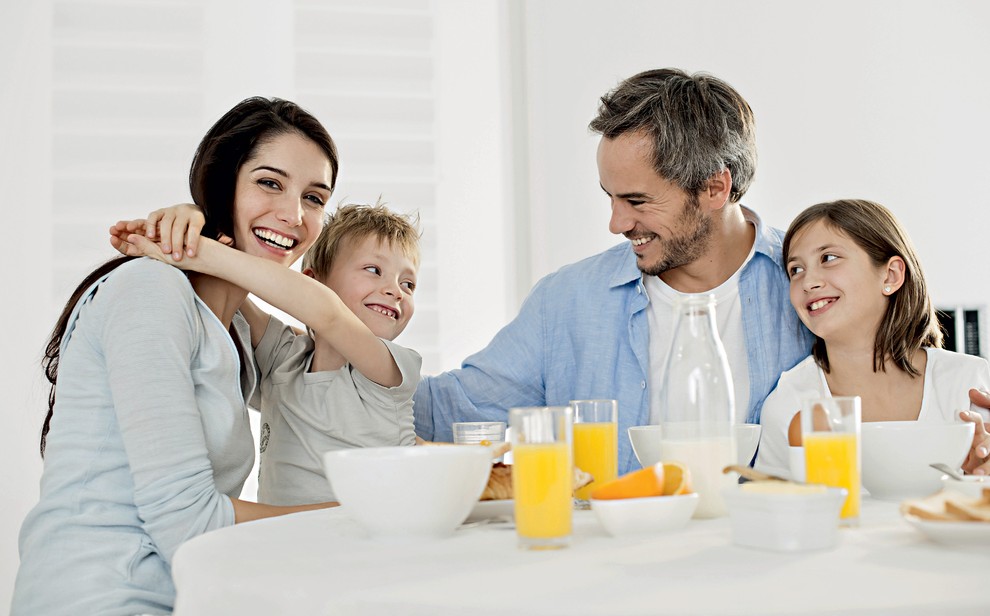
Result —
[[[0,472],[0,614],[10,605],[21,519],[38,498],[38,413],[47,394],[38,361],[51,305],[51,273],[29,266],[51,253],[51,103],[47,2],[0,4],[0,207],[4,241],[0,412],[6,464]],[[42,415],[43,417],[43,415]]]

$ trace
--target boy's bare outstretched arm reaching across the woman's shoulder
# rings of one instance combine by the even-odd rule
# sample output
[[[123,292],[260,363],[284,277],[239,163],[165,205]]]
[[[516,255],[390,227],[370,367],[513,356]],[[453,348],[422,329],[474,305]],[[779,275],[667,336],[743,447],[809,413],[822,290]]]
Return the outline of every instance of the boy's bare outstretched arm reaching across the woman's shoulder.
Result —
[[[166,257],[157,244],[136,234],[127,237],[124,250],[128,255],[153,257],[181,269],[227,280],[308,325],[375,383],[385,387],[402,383],[402,373],[385,343],[336,293],[308,276],[205,237],[200,238],[197,256],[187,256],[181,262]],[[252,327],[252,342],[253,332]]]

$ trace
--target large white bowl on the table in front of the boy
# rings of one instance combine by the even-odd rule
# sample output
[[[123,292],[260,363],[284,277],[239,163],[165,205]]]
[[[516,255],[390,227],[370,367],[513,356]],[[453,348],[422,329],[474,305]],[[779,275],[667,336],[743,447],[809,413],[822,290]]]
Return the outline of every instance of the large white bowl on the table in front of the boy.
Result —
[[[341,506],[375,537],[444,537],[478,503],[487,447],[369,447],[323,455]]]

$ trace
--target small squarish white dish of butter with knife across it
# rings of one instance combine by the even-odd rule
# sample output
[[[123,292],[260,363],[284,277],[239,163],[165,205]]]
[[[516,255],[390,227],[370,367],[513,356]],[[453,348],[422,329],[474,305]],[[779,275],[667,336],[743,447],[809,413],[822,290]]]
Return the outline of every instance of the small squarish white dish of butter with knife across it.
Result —
[[[838,542],[845,488],[788,494],[750,491],[747,485],[752,484],[722,490],[736,545],[795,552],[824,550]]]

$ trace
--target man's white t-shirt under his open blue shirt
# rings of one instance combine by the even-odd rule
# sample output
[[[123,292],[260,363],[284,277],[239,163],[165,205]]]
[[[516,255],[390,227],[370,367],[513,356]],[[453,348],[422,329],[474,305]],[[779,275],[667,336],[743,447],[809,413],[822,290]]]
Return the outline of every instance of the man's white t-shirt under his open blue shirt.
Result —
[[[742,324],[742,301],[739,299],[739,276],[755,254],[754,243],[739,269],[718,287],[706,293],[681,293],[660,280],[659,276],[643,275],[643,286],[650,298],[647,317],[650,324],[650,423],[660,423],[660,395],[667,367],[667,356],[674,338],[676,314],[674,307],[684,297],[715,296],[715,326],[725,347],[732,373],[732,389],[736,403],[736,422],[745,423],[749,408],[749,359]]]

